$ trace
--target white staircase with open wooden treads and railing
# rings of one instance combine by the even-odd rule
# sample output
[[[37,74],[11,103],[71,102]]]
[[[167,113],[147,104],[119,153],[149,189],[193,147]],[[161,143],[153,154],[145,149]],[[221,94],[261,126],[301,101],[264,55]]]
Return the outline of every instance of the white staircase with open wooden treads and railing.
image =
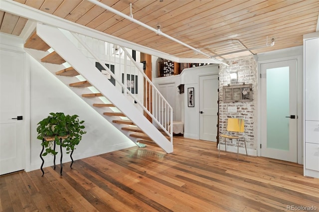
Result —
[[[122,49],[125,59],[119,63],[121,67],[124,67],[124,74],[122,74],[124,79],[118,79],[118,77],[104,65],[105,60],[96,56],[90,48],[90,44],[86,44],[86,42],[80,38],[80,36],[83,37],[83,35],[70,32],[65,33],[64,30],[44,24],[37,24],[36,34],[37,36],[35,35],[33,38],[30,38],[28,45],[25,46],[25,48],[28,48],[27,52],[29,52],[32,57],[42,63],[48,70],[50,66],[55,66],[51,63],[62,64],[66,61],[70,67],[61,69],[55,74],[63,83],[69,85],[72,91],[83,98],[85,102],[97,110],[138,146],[143,146],[139,142],[139,139],[152,140],[165,152],[173,152],[172,127],[169,126],[169,123],[172,122],[172,109],[152,82],[146,77],[143,69],[141,69],[135,61],[133,63],[136,65],[136,70],[138,70],[139,73],[134,72],[134,75],[131,75],[132,72],[126,70],[127,58],[133,58],[128,54],[125,48],[119,47]],[[77,40],[77,44],[81,44],[80,49],[77,44],[74,43],[74,40]],[[42,44],[36,42],[42,42]],[[42,49],[42,51],[29,49],[33,48],[32,46],[35,47],[45,44],[48,45],[46,48],[51,47],[54,52],[48,54],[44,49]],[[83,51],[83,49],[85,50]],[[117,60],[121,61],[121,58]],[[114,86],[96,68],[96,61],[116,80],[117,86]],[[130,69],[132,69],[132,67]],[[152,104],[151,101],[143,102],[139,100],[136,92],[131,92],[127,88],[127,83],[124,83],[125,85],[122,83],[127,82],[127,76],[138,75],[142,78],[139,83],[143,84],[147,82],[148,84],[147,89],[139,90],[140,95],[144,94],[146,100],[153,100]],[[106,99],[107,102],[101,97]],[[162,111],[165,112],[163,113]],[[153,122],[158,125],[160,130],[152,124],[143,113],[147,113],[152,117]],[[123,118],[119,118],[119,116]]]

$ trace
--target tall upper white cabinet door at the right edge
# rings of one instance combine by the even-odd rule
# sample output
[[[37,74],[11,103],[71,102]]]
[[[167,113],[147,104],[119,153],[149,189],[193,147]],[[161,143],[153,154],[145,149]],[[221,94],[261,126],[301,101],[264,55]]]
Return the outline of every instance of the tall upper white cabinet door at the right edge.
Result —
[[[319,121],[319,38],[305,41],[306,120]]]

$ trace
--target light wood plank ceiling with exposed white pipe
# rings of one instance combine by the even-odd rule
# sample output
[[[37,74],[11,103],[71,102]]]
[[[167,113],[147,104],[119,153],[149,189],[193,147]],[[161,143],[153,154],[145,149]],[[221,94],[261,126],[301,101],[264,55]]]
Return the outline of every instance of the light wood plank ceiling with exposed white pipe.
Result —
[[[203,58],[176,42],[87,0],[16,0],[61,18],[177,57]],[[319,0],[101,0],[211,56],[253,48],[263,53],[303,45],[316,31]],[[23,16],[23,15],[22,15]],[[18,36],[27,19],[0,11],[0,31]],[[275,38],[273,47],[266,46]],[[261,48],[258,48],[261,47]],[[257,48],[257,49],[256,49]],[[217,59],[251,54],[227,54]]]

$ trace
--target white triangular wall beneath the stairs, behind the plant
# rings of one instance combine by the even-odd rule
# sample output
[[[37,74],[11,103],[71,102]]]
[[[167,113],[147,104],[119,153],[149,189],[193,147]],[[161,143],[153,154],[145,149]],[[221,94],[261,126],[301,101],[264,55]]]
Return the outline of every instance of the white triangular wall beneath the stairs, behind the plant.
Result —
[[[0,38],[1,48],[13,49],[16,48],[13,46],[17,46],[20,51],[23,51],[22,40],[3,34]],[[12,45],[12,47],[7,44]],[[36,127],[40,120],[49,115],[49,112],[78,114],[80,120],[85,120],[84,125],[87,133],[83,135],[82,141],[72,155],[74,160],[135,146],[129,138],[75,95],[31,56],[26,54],[25,59],[27,65],[23,71],[25,72],[24,88],[26,97],[25,114],[23,116],[25,117],[25,128],[28,129],[25,132],[26,171],[40,168],[42,162],[39,157],[41,141],[36,138]],[[57,158],[59,156],[60,154]],[[53,165],[52,158],[52,156],[44,157],[44,167]],[[57,164],[58,161],[57,159]],[[63,162],[68,161],[70,161],[70,158],[64,154]]]

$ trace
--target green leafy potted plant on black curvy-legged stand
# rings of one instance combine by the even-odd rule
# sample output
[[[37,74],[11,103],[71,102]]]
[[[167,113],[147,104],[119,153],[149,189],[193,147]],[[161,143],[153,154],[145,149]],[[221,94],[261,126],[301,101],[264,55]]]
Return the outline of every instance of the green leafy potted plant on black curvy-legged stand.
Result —
[[[82,139],[82,135],[86,133],[83,120],[78,119],[78,115],[65,115],[63,112],[51,112],[50,115],[38,123],[36,131],[37,138],[43,141],[41,143],[45,148],[42,156],[47,154],[56,155],[57,152],[52,148],[53,142],[45,140],[54,137],[57,145],[66,147],[66,153],[69,154],[75,149]],[[59,136],[65,137],[60,142]]]

